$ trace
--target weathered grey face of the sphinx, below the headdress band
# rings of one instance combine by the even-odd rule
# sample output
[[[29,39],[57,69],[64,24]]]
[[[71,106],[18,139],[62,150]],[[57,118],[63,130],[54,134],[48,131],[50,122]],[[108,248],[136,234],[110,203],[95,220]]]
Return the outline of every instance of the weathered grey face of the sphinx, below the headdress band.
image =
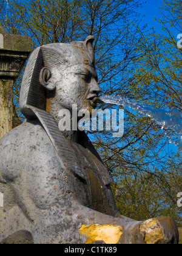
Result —
[[[84,108],[91,113],[101,92],[95,69],[89,65],[75,64],[60,75],[61,80],[56,82],[56,101],[60,107],[71,110],[72,105],[76,104],[78,110]]]

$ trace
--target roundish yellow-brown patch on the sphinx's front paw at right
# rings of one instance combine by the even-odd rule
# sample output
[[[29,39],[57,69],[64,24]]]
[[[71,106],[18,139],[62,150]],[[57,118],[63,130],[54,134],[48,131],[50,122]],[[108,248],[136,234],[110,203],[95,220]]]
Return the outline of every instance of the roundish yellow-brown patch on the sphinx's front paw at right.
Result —
[[[140,232],[143,233],[144,243],[157,244],[163,239],[163,231],[157,219],[148,219],[140,226]]]

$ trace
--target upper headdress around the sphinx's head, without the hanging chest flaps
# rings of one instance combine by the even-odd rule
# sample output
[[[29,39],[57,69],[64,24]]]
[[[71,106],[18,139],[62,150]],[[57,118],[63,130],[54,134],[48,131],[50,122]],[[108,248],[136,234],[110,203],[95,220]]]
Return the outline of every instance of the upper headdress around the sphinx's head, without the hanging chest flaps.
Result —
[[[33,108],[46,110],[45,88],[39,82],[42,68],[61,68],[62,65],[80,62],[80,59],[83,63],[94,66],[94,39],[89,36],[85,41],[47,44],[33,51],[25,68],[19,100],[21,112],[26,118],[36,118]]]

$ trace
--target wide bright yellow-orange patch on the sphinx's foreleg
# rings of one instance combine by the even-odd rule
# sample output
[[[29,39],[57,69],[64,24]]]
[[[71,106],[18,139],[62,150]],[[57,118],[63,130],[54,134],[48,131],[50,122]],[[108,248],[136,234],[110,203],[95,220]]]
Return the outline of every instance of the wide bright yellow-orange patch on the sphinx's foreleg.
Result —
[[[117,244],[123,232],[122,227],[114,225],[91,224],[89,226],[82,225],[79,232],[86,235],[88,240],[86,244],[93,244],[94,241],[104,241],[106,244]]]

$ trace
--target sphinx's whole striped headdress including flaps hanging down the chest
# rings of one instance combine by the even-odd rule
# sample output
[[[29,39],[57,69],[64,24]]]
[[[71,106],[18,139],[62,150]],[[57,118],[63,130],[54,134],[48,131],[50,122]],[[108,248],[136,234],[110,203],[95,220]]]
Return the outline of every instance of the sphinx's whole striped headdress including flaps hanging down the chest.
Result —
[[[77,163],[70,141],[62,135],[53,116],[46,112],[46,91],[41,85],[39,77],[44,68],[52,69],[57,67],[61,69],[62,65],[71,66],[75,63],[94,66],[93,41],[94,37],[89,36],[85,41],[54,43],[35,49],[24,72],[19,102],[21,112],[26,118],[39,119],[67,169],[81,179],[87,179],[87,177],[85,177],[85,173]],[[87,135],[85,137],[89,141]],[[90,142],[87,144],[92,145]],[[92,150],[94,151],[95,149],[90,148],[90,151]],[[103,166],[101,169],[103,170],[101,171],[101,176],[103,176],[104,182],[109,184],[110,177],[108,172],[104,171]]]

